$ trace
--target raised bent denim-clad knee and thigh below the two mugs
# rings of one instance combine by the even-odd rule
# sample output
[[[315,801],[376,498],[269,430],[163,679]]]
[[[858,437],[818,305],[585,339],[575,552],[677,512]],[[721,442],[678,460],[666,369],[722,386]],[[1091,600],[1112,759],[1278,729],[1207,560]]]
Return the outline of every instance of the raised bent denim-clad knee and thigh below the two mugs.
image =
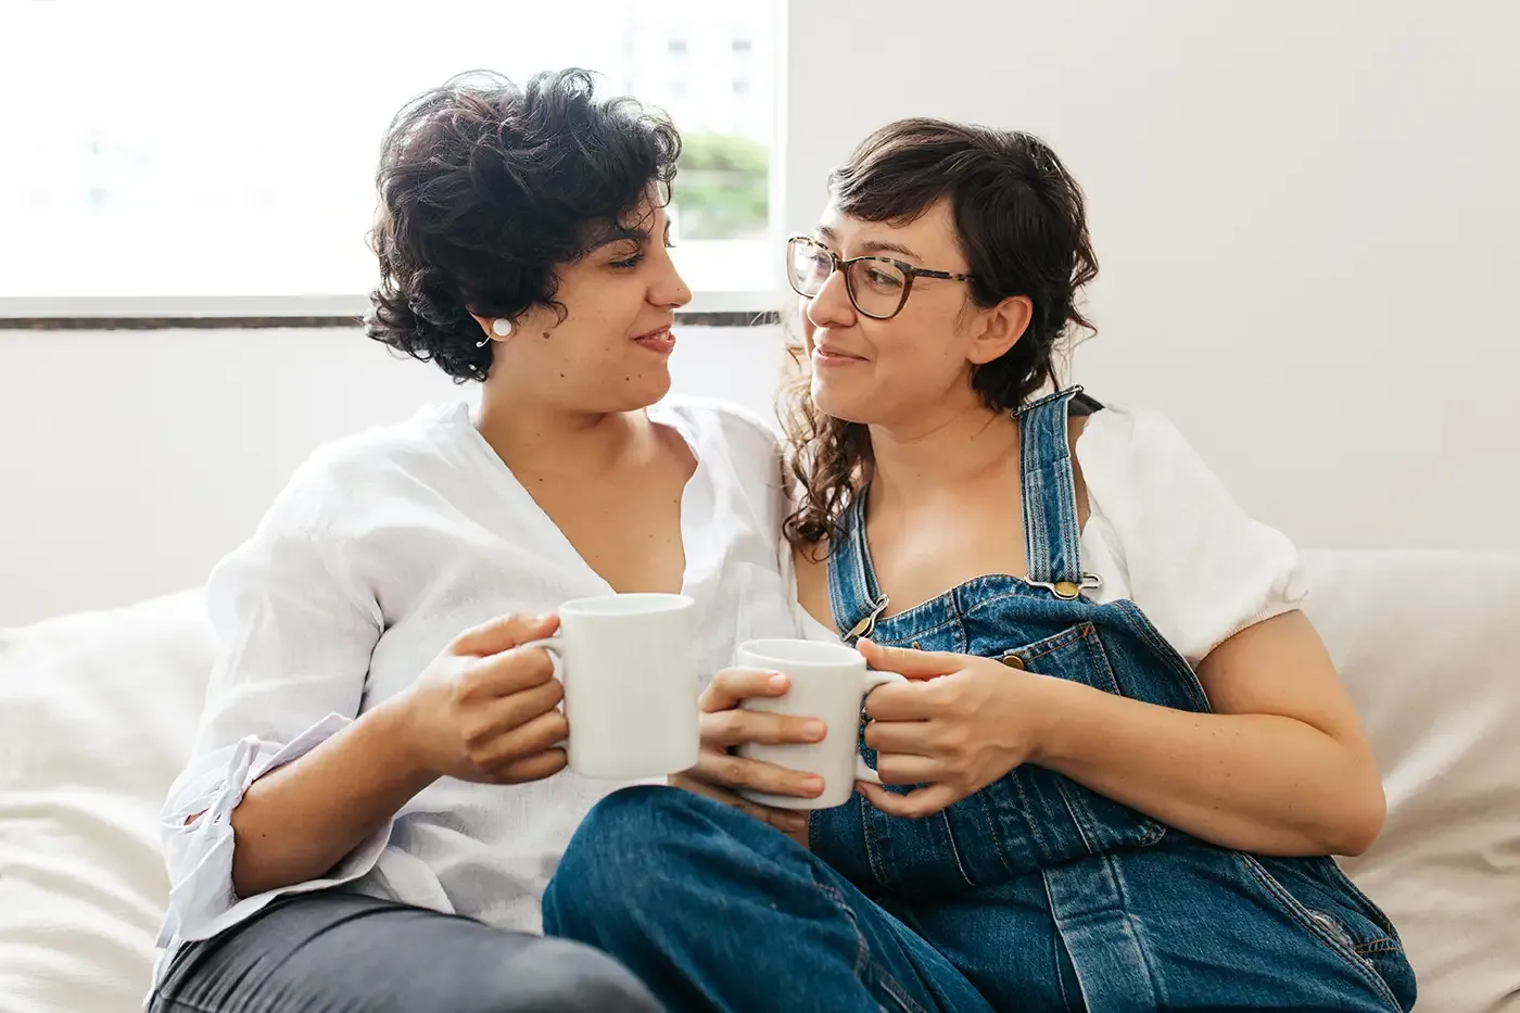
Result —
[[[672,1008],[988,1010],[821,858],[676,788],[628,788],[591,809],[544,894],[544,925],[613,952]]]

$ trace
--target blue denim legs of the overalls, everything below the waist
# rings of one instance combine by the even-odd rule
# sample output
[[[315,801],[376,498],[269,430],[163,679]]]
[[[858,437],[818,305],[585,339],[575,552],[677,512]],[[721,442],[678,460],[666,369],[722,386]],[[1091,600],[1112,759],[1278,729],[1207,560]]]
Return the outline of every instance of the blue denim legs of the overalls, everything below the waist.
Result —
[[[1388,1013],[1403,1005],[1389,984],[1412,998],[1400,954],[1380,967],[1385,984],[1376,952],[1333,938],[1338,925],[1304,922],[1295,897],[1333,899],[1333,888],[1295,881],[1292,897],[1278,896],[1275,873],[1295,875],[1292,862],[1274,870],[1181,835],[1122,865],[1082,861],[1093,893],[1062,899],[1059,926],[1031,888],[1038,872],[868,897],[742,812],[675,788],[628,788],[572,840],[544,894],[544,931],[611,954],[672,1010]],[[1104,882],[1143,916],[1111,917]],[[1114,932],[1143,937],[1154,964],[1131,966],[1134,949],[1107,938]],[[1085,949],[1081,975],[1069,945]]]

